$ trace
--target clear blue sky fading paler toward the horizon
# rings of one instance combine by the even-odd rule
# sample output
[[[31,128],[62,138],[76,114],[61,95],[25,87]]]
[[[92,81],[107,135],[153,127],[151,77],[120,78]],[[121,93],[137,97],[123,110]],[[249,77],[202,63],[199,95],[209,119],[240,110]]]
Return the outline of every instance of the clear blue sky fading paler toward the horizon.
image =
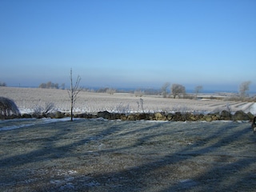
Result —
[[[255,0],[1,0],[0,82],[256,91]]]

